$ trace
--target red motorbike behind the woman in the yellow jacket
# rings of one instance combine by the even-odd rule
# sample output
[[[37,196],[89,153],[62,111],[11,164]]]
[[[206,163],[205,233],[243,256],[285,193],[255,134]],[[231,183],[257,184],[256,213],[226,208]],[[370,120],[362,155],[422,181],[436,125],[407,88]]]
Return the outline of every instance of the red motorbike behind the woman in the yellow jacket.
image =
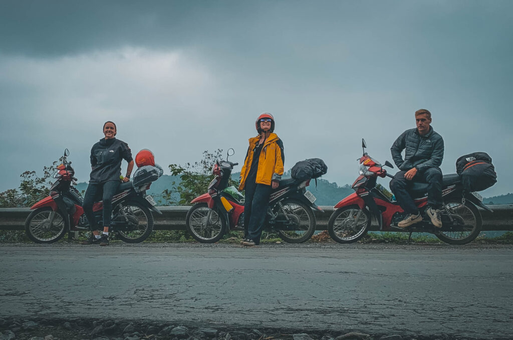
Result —
[[[231,154],[230,154],[231,150]],[[228,150],[228,156],[233,149]],[[244,230],[244,195],[235,186],[228,186],[232,169],[239,163],[217,160],[212,167],[214,179],[208,192],[191,201],[186,217],[187,231],[202,243],[219,241],[228,230]],[[305,188],[310,181],[284,179],[269,198],[265,231],[277,232],[290,243],[305,242],[315,232],[315,215],[312,208],[315,196]]]

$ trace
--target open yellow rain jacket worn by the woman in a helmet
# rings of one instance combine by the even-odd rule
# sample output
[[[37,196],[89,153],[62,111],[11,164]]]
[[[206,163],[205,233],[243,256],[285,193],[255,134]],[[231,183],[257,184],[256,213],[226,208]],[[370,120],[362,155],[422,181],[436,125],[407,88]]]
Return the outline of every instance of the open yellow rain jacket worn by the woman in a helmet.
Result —
[[[249,174],[249,168],[253,160],[253,150],[260,140],[260,136],[249,139],[248,152],[246,159],[241,170],[241,184],[239,190],[243,190],[246,185],[246,178]],[[278,135],[269,134],[263,145],[262,152],[258,161],[257,180],[255,182],[260,184],[270,185],[273,180],[280,180],[283,175],[283,162],[285,156],[283,155],[283,142]]]

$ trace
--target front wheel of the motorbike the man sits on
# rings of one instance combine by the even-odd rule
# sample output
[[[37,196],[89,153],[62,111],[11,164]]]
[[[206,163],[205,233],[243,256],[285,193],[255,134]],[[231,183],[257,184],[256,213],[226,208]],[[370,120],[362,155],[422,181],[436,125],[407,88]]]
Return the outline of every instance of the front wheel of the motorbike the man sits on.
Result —
[[[353,243],[367,234],[370,214],[359,206],[345,206],[337,209],[328,220],[328,233],[339,243]]]

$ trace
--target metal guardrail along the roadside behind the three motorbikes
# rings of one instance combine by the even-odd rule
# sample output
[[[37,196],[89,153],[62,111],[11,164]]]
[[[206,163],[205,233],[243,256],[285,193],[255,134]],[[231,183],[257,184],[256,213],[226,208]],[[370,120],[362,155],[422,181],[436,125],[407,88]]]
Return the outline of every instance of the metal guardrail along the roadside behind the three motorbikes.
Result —
[[[326,230],[333,206],[321,206],[324,213],[315,212],[317,230]],[[513,231],[513,204],[489,205],[490,213],[479,209],[483,216],[483,231]],[[185,216],[190,206],[160,206],[163,215],[153,214],[154,230],[184,230]],[[24,230],[29,208],[0,208],[0,230]],[[376,221],[372,221],[370,230],[378,230]]]

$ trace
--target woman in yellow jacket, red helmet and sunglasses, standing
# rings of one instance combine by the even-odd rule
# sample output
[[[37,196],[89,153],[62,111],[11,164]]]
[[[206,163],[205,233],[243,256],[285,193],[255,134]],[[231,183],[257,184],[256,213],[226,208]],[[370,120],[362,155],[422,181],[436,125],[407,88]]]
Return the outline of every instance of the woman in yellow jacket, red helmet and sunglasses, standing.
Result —
[[[283,142],[274,131],[274,118],[264,113],[255,127],[259,136],[249,139],[241,170],[239,190],[245,190],[244,239],[242,244],[258,245],[269,206],[269,196],[283,175]]]

